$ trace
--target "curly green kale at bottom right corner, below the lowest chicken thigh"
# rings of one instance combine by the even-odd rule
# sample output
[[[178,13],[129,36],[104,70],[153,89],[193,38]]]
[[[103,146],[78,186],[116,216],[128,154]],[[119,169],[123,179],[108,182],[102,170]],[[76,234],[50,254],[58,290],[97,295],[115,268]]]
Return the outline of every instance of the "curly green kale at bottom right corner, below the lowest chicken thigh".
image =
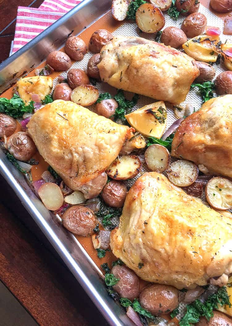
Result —
[[[213,317],[213,310],[217,309],[218,304],[231,307],[225,286],[219,288],[216,293],[211,294],[204,303],[197,299],[193,303],[188,304],[186,306],[187,312],[180,320],[179,325],[190,326],[190,324],[197,323],[200,317],[205,317],[209,321]]]

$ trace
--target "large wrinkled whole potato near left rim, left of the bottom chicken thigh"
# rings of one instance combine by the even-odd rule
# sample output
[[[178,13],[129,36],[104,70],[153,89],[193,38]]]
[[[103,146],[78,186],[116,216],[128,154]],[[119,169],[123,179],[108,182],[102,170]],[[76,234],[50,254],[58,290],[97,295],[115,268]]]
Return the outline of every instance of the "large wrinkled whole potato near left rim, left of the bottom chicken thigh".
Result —
[[[94,212],[84,206],[71,206],[62,216],[63,226],[73,234],[91,235],[97,225]]]

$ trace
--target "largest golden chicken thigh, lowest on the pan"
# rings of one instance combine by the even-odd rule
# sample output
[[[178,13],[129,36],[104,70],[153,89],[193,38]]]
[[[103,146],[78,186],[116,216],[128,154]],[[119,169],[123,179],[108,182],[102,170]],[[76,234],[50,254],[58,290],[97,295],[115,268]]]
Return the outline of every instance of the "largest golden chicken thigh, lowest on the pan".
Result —
[[[232,272],[231,217],[187,195],[163,174],[144,173],[126,196],[110,246],[142,279],[193,288]]]

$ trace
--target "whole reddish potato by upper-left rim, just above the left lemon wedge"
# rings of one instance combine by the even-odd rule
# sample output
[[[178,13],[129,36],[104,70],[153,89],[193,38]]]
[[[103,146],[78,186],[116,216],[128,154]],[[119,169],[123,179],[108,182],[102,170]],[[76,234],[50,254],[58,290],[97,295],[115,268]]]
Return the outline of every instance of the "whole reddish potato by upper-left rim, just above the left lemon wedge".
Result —
[[[66,71],[72,65],[70,57],[61,51],[53,51],[49,53],[46,63],[56,71]]]

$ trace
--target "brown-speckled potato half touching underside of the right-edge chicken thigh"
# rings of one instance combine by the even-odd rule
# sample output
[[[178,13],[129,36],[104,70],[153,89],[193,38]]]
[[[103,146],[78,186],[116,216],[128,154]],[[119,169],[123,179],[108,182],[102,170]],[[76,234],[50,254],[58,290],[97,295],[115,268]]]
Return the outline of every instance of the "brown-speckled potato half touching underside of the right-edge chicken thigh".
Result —
[[[198,167],[191,161],[178,160],[173,162],[167,169],[167,177],[179,187],[187,187],[193,184],[198,177]]]

